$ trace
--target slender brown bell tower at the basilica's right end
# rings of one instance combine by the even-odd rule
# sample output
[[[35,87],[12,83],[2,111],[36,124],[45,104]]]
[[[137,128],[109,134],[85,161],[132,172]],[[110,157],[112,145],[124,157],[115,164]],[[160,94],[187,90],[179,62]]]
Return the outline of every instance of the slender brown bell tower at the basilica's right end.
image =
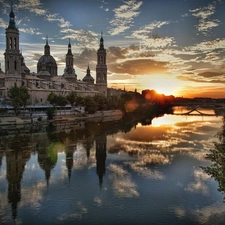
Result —
[[[104,48],[104,40],[102,37],[102,33],[101,33],[101,38],[100,38],[100,46],[97,51],[96,89],[102,95],[107,97],[106,50]]]

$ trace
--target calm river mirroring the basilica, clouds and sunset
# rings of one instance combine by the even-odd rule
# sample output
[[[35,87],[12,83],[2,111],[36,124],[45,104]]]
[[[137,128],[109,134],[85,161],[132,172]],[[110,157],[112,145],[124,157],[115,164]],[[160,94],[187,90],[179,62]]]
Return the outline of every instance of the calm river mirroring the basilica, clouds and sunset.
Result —
[[[223,194],[200,168],[221,126],[164,115],[2,131],[0,224],[225,224]]]

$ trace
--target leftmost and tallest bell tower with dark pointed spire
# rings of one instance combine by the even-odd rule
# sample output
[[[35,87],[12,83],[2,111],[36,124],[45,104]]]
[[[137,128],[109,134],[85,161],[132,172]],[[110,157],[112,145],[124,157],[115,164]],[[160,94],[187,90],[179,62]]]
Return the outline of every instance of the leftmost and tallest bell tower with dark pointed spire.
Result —
[[[6,50],[5,50],[5,74],[7,88],[17,83],[21,84],[21,59],[22,54],[19,50],[19,30],[15,24],[15,15],[11,4],[11,12],[9,14],[9,25],[6,28]]]

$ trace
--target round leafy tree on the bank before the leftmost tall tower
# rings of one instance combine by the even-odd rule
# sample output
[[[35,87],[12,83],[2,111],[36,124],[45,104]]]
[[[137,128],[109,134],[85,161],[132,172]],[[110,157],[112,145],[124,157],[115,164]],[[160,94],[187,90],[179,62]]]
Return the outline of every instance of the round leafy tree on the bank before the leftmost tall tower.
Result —
[[[11,105],[14,108],[15,114],[20,114],[20,108],[26,107],[28,99],[30,98],[28,89],[24,86],[18,87],[17,84],[9,89],[8,97],[11,100]]]

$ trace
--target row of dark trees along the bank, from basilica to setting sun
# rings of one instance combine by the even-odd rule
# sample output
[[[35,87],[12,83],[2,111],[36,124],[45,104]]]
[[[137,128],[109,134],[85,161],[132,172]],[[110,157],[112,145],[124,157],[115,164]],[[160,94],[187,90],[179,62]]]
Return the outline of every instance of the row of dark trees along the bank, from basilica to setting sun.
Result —
[[[154,98],[149,98],[149,93]],[[80,96],[74,91],[71,91],[66,96],[51,92],[47,97],[47,101],[52,107],[49,107],[46,113],[48,118],[52,119],[58,108],[64,109],[66,105],[70,105],[71,110],[75,110],[75,107],[83,107],[87,114],[115,109],[119,109],[124,113],[153,114],[155,112],[158,113],[160,109],[164,109],[165,102],[168,102],[159,101],[160,96],[157,96],[155,92],[153,93],[154,95],[149,91],[142,94],[138,92],[124,92],[120,96],[105,97],[103,95]],[[26,108],[30,101],[28,89],[24,86],[18,87],[16,83],[9,89],[8,97],[17,116],[22,109]]]

